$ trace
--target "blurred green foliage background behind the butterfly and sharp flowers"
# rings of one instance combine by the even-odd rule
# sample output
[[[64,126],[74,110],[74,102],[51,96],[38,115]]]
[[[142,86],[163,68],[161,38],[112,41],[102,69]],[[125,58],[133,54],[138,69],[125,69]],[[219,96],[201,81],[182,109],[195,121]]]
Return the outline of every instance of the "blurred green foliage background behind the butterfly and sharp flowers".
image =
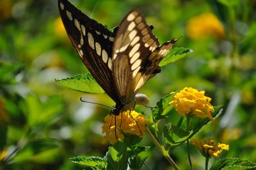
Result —
[[[109,28],[140,8],[160,43],[182,36],[175,47],[195,51],[165,66],[140,92],[154,106],[185,86],[205,90],[224,111],[198,137],[230,144],[221,157],[256,162],[255,0],[70,1]],[[79,98],[109,106],[114,102],[54,81],[85,72],[63,28],[57,0],[0,1],[0,169],[86,169],[69,158],[106,154],[101,127],[109,109]],[[150,110],[143,109],[148,116]],[[169,119],[176,118],[173,112]],[[152,143],[146,136],[141,145]],[[196,148],[191,152],[195,169],[203,169],[204,158]],[[171,168],[156,148],[143,154],[152,169]],[[180,169],[188,168],[185,146],[172,157]]]

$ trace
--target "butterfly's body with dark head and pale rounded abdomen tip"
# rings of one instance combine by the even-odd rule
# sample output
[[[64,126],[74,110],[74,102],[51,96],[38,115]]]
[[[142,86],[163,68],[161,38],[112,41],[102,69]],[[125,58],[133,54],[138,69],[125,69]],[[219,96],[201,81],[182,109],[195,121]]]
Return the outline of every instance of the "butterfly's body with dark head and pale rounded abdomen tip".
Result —
[[[147,105],[148,102],[149,99],[147,95],[137,93],[132,101],[129,101],[126,104],[116,104],[114,109],[111,111],[111,114],[118,116],[122,111],[129,111],[133,109],[135,105]]]

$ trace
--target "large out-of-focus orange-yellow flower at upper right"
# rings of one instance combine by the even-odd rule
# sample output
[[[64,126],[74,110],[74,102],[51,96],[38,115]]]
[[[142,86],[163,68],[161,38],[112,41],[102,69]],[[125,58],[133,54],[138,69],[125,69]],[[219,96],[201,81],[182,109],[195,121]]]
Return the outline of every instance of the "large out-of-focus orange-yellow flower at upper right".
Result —
[[[203,13],[187,22],[188,36],[194,40],[207,37],[225,38],[225,29],[220,20],[213,13]]]

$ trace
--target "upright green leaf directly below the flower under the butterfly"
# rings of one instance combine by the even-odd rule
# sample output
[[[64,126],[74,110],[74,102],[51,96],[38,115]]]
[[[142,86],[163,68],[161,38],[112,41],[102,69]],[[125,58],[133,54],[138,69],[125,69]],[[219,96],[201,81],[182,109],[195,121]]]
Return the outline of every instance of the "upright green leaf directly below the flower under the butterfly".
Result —
[[[108,169],[127,169],[128,152],[127,145],[118,141],[114,146],[110,146],[107,153]]]

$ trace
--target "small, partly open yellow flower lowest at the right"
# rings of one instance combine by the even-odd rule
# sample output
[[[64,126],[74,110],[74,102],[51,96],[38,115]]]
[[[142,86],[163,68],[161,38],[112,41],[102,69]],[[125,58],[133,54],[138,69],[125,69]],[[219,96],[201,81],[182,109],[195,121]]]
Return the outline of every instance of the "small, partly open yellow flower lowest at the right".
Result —
[[[215,140],[210,137],[191,139],[191,143],[198,148],[204,157],[219,157],[223,150],[229,150],[228,144],[215,144]]]

